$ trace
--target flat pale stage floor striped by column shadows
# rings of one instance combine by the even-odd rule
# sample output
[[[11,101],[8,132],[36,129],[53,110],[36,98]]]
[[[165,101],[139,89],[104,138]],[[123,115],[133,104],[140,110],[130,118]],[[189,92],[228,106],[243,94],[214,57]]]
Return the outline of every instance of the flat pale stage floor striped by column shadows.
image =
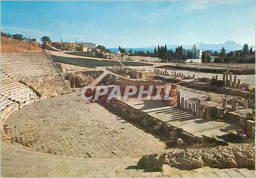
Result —
[[[190,112],[180,110],[174,106],[167,106],[162,101],[130,98],[123,100],[123,102],[170,125],[182,128],[195,136],[216,137],[217,135],[227,134],[229,130],[240,128],[236,124],[230,125],[225,122],[206,121],[204,118],[200,118]]]

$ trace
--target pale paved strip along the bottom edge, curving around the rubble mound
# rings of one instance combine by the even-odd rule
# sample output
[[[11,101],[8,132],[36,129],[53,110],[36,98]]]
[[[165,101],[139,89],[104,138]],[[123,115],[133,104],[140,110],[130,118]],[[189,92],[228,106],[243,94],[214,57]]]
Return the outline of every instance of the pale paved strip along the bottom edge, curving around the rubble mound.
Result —
[[[59,157],[32,152],[21,145],[3,143],[3,141],[1,158],[2,177],[255,177],[254,170],[236,168],[203,167],[190,171],[170,168],[162,172],[144,172],[142,169],[136,169],[140,158]]]

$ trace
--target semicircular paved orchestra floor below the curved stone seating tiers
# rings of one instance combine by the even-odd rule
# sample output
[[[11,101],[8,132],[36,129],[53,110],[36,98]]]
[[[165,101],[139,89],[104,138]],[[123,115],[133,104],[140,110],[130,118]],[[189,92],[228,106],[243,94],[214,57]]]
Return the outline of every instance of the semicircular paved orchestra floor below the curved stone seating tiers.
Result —
[[[5,120],[4,131],[33,151],[79,158],[141,157],[165,147],[99,104],[84,103],[76,92],[19,109]]]

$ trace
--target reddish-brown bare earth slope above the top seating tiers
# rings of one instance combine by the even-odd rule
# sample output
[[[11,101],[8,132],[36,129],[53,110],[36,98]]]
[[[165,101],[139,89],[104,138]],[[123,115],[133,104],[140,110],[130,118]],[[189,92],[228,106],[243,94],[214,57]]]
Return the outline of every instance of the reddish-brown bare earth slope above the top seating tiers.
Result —
[[[41,52],[40,43],[31,41],[15,40],[8,37],[1,37],[1,53],[26,53],[26,52]]]

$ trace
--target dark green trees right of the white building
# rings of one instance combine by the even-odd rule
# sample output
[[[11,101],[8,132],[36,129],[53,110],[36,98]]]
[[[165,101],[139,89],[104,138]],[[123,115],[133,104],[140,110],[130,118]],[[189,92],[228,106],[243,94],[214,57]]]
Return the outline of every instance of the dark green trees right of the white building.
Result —
[[[214,56],[214,61],[211,60],[211,56]],[[207,50],[202,54],[202,63],[254,63],[255,51],[252,51],[252,47],[249,49],[248,44],[244,44],[243,48],[234,52],[226,53],[226,49],[222,47],[221,52]]]

